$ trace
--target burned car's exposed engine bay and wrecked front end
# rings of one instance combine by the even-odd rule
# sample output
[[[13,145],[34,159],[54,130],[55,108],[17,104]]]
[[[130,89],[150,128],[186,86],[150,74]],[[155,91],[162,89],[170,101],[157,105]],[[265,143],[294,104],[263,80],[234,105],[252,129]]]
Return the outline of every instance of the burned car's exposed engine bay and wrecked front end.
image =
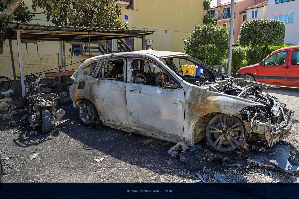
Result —
[[[232,78],[216,79],[213,82],[196,81],[194,84],[204,90],[260,103],[260,106],[246,107],[235,114],[246,128],[246,143],[257,142],[272,147],[290,134],[294,112],[287,109],[286,104],[278,98],[262,93],[270,85]]]

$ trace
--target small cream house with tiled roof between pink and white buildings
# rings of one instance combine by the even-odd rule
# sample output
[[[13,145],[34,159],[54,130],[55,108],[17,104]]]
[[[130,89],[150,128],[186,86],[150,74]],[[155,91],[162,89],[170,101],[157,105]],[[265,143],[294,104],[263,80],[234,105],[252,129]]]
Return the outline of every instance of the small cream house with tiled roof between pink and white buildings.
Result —
[[[246,21],[250,19],[267,18],[268,1],[263,1],[248,8],[246,10]]]

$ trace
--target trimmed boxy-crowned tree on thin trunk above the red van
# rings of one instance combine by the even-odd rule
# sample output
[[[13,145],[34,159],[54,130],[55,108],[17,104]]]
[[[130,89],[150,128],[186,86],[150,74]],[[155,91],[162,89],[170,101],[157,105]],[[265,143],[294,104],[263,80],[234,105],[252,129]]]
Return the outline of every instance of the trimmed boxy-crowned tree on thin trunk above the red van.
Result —
[[[285,24],[274,19],[251,19],[241,24],[238,42],[241,46],[265,46],[266,53],[268,45],[279,46],[284,42],[286,33]]]

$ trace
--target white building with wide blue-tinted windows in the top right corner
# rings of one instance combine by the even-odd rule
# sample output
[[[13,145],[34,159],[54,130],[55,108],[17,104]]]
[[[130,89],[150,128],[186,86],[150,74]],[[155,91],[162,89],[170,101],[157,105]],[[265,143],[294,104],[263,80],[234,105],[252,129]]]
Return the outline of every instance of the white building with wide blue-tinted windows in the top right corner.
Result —
[[[285,44],[299,44],[299,0],[268,0],[266,18],[286,24]]]

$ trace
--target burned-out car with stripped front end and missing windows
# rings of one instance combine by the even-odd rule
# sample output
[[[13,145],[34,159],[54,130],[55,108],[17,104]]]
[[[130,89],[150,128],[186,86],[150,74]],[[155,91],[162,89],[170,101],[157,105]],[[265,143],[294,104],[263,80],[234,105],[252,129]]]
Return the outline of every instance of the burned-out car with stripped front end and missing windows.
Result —
[[[186,75],[181,65],[204,72]],[[206,139],[221,152],[257,141],[271,147],[290,134],[294,113],[262,93],[274,86],[222,75],[185,53],[100,55],[84,61],[71,79],[71,99],[85,125],[189,146]]]

